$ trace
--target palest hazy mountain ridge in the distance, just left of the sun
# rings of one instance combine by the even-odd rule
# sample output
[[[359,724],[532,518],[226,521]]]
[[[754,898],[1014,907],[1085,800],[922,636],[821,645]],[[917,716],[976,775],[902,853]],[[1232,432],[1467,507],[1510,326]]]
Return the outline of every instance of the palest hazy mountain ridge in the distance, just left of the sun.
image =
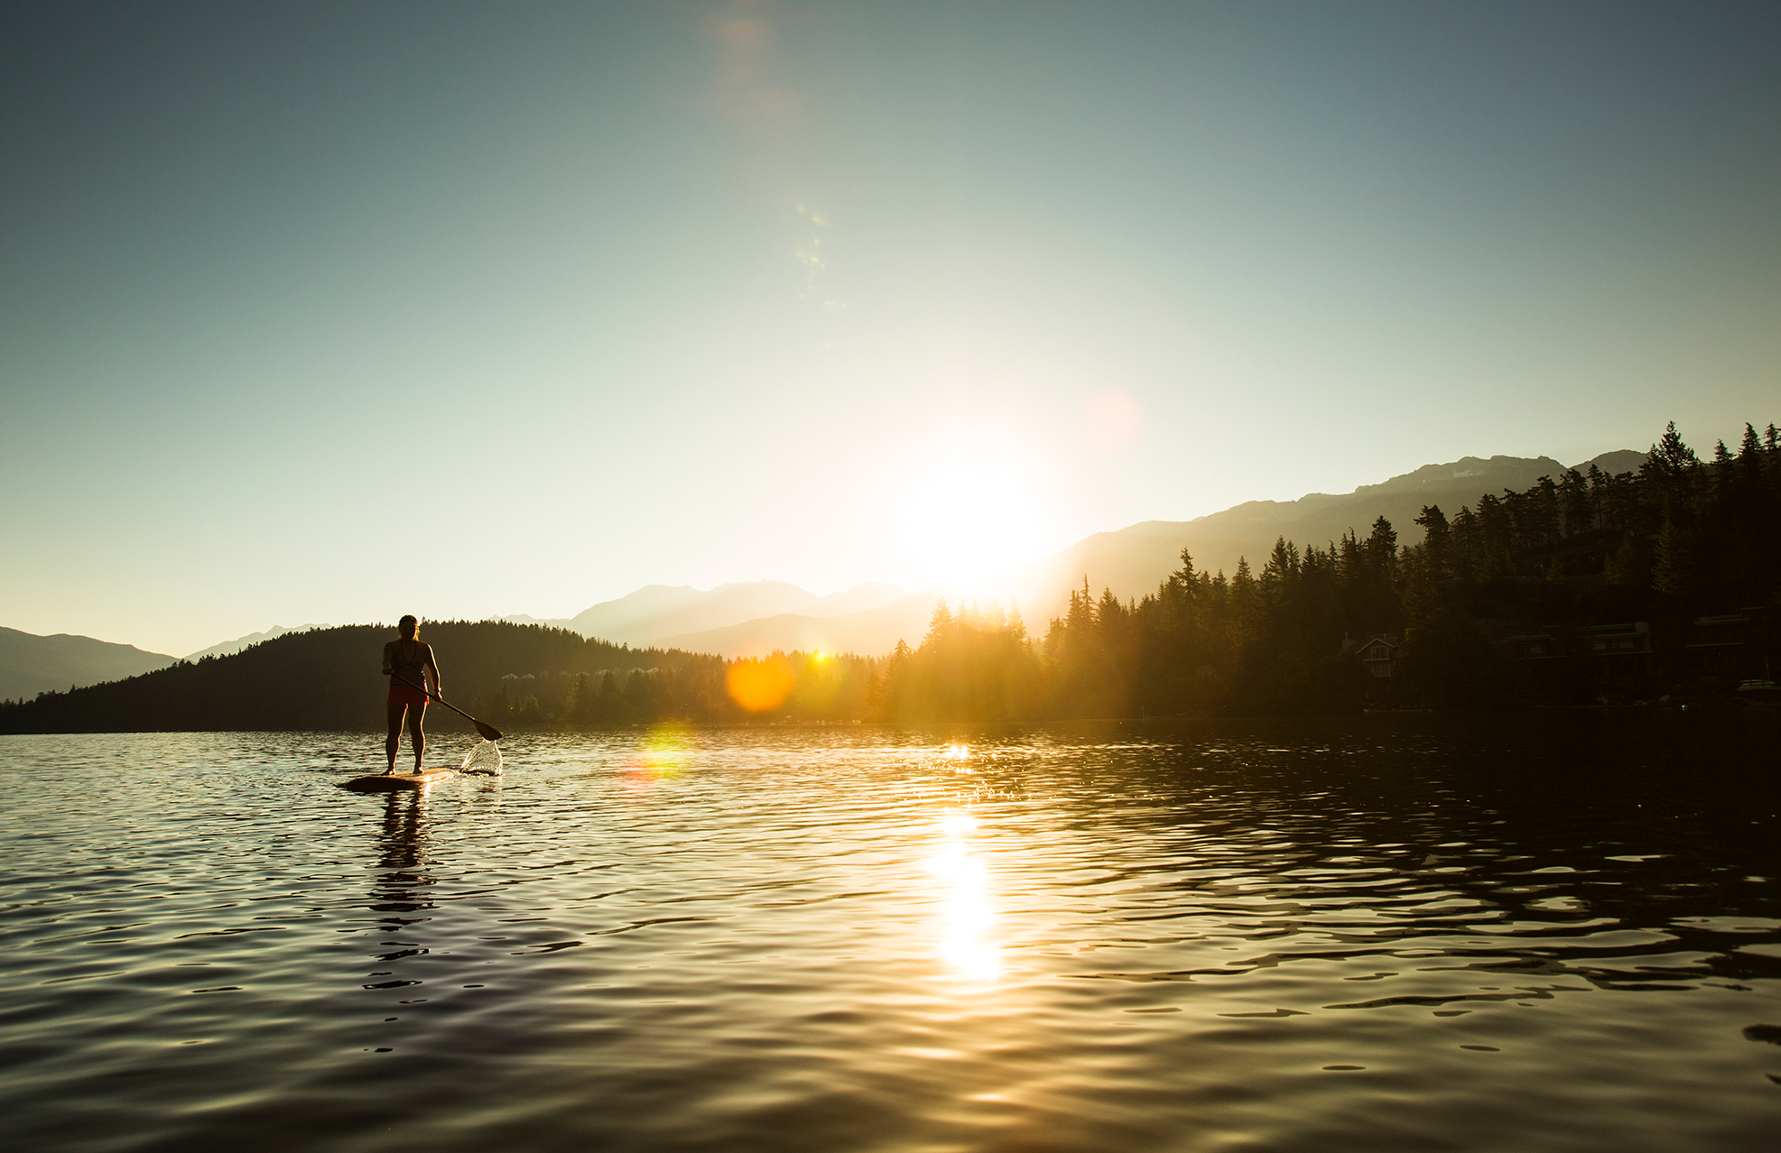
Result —
[[[889,605],[901,596],[903,589],[889,584],[862,584],[830,596],[817,596],[782,580],[727,584],[709,591],[691,585],[645,585],[579,612],[561,625],[584,637],[614,644],[663,646],[666,637],[702,633],[743,621],[785,614],[844,616]],[[518,621],[518,617],[509,619]],[[557,625],[557,621],[549,623]]]

